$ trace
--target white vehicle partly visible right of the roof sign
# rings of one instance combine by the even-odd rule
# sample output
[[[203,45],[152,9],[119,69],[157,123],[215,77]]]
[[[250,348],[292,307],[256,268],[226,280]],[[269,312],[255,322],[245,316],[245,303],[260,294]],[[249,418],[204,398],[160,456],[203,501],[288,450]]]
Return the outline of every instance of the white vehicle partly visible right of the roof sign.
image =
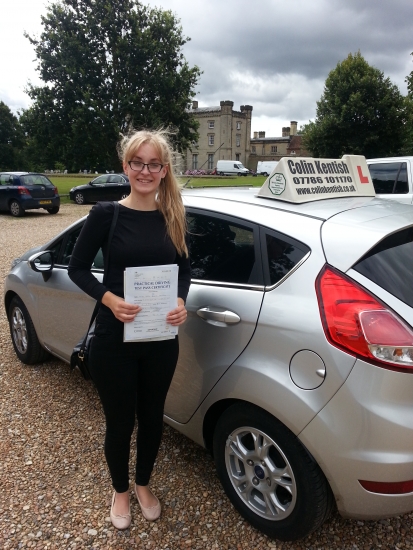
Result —
[[[412,204],[413,157],[367,159],[376,195]]]

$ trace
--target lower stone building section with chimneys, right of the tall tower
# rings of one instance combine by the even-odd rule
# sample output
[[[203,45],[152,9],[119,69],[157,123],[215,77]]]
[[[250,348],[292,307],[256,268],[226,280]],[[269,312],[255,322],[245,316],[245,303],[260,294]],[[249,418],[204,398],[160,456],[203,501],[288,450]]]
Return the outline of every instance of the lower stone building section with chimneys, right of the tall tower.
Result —
[[[295,120],[290,122],[290,126],[282,129],[281,137],[265,137],[265,132],[254,132],[254,137],[251,138],[251,153],[246,166],[250,170],[256,170],[258,161],[280,160],[290,155],[310,156],[303,147],[301,135],[297,134]]]

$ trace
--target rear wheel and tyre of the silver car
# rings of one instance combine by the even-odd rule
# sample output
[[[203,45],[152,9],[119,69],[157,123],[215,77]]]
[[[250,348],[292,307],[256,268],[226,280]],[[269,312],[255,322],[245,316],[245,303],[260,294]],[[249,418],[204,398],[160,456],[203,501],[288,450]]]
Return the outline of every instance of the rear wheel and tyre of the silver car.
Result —
[[[262,409],[229,407],[218,420],[213,451],[228,498],[269,537],[300,539],[330,515],[334,499],[323,472],[297,437]]]

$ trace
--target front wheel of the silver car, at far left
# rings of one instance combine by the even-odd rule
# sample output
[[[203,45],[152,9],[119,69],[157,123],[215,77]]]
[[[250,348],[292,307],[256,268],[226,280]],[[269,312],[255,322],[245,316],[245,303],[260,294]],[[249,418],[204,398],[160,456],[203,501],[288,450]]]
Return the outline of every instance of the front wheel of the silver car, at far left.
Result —
[[[49,357],[42,348],[26,306],[18,296],[14,296],[9,307],[9,327],[14,351],[22,363],[34,365]]]

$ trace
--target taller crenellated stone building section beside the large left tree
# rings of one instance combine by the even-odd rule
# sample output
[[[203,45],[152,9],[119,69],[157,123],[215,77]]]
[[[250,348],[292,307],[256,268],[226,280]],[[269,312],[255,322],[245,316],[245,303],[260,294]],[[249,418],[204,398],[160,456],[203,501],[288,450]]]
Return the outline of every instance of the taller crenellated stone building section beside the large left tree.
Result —
[[[240,160],[245,166],[250,155],[251,105],[234,111],[233,101],[221,101],[219,107],[198,107],[190,113],[199,122],[199,139],[186,154],[186,168],[213,170],[217,161]]]

